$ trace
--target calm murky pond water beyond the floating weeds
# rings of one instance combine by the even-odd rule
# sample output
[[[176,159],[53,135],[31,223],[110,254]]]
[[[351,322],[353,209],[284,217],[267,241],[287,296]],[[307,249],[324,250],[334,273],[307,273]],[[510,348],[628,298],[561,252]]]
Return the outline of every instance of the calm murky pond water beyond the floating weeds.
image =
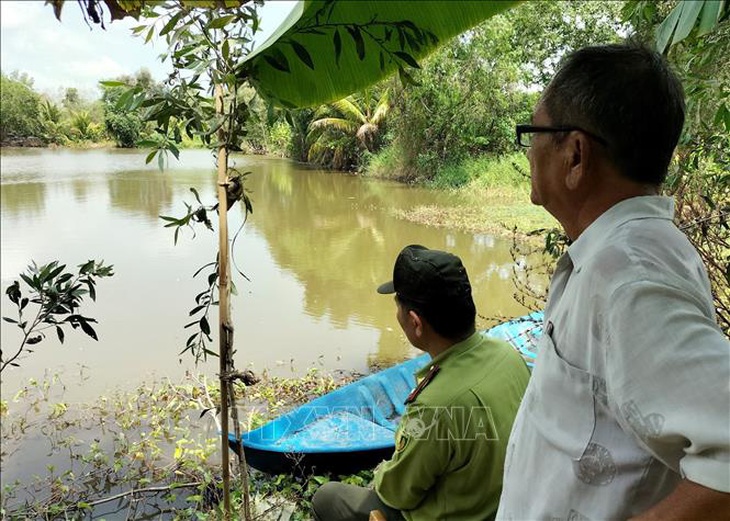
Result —
[[[49,338],[20,369],[3,375],[14,392],[47,368],[73,373],[87,366],[87,396],[140,380],[177,380],[192,362],[184,345],[187,312],[205,281],[192,279],[215,259],[217,237],[205,230],[172,232],[159,215],[182,215],[190,187],[213,202],[215,172],[207,151],[184,151],[166,172],[144,164],[138,151],[2,150],[2,290],[35,259],[71,265],[89,258],[114,264],[116,275],[98,288],[88,313],[99,319],[98,343],[70,332],[59,346]],[[238,296],[233,299],[240,368],[303,373],[307,367],[366,371],[414,354],[395,320],[392,298],[375,287],[390,278],[409,243],[462,257],[482,316],[516,316],[509,244],[489,235],[427,227],[394,217],[417,205],[455,205],[444,193],[311,170],[286,160],[236,158],[251,171],[254,214],[241,228],[235,206],[230,235]],[[10,311],[4,299],[2,314]],[[3,346],[17,345],[3,323]],[[5,349],[3,349],[5,351]],[[199,368],[213,375],[215,361]]]

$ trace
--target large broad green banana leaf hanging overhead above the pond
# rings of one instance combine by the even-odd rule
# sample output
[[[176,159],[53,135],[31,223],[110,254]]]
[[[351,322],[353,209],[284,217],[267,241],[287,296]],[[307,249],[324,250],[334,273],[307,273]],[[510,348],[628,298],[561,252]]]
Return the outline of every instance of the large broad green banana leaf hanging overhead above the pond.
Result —
[[[259,94],[285,107],[341,99],[418,61],[516,2],[299,1],[241,64]]]

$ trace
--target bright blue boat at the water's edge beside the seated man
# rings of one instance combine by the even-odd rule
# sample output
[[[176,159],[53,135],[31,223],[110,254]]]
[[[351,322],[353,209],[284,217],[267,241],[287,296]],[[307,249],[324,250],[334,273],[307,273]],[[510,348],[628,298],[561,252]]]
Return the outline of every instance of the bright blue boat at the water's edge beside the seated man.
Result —
[[[532,368],[542,312],[496,325],[482,334],[509,342]],[[247,463],[260,471],[350,474],[388,459],[405,399],[415,387],[414,373],[427,354],[366,376],[293,409],[241,441]],[[237,448],[234,435],[229,444]]]

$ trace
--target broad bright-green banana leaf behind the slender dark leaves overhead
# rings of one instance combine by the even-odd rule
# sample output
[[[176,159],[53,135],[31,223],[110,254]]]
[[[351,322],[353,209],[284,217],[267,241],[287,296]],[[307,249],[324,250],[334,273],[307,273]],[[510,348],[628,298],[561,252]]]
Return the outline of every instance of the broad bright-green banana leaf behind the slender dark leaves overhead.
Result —
[[[379,40],[385,41],[389,52],[403,50],[397,48],[395,27],[401,24],[401,29],[411,33],[412,37],[417,35],[403,25],[403,20],[412,22],[418,28],[421,35],[425,35],[418,52],[409,52],[416,60],[421,60],[431,53],[434,48],[434,40],[445,42],[464,33],[468,29],[483,22],[490,16],[501,13],[517,2],[502,0],[480,0],[470,2],[364,2],[364,1],[311,1],[301,2],[300,14],[297,13],[283,21],[280,30],[275,29],[272,38],[262,42],[255,49],[244,63],[241,69],[250,71],[249,78],[257,87],[259,94],[266,99],[282,106],[305,107],[314,106],[330,101],[342,99],[353,91],[363,89],[372,85],[389,74],[396,72],[399,62],[384,60],[384,68],[380,67],[379,46],[363,42],[361,53],[364,52],[364,59],[352,66],[350,64],[343,70],[343,60],[354,56],[347,55],[347,49],[337,49],[333,45],[336,38],[335,27],[339,26],[339,36],[342,39],[349,39],[350,33],[345,33],[347,26],[359,25],[361,29],[367,28],[370,34],[376,35]],[[331,17],[328,18],[328,11],[331,10]],[[296,10],[295,10],[296,11]],[[319,17],[317,18],[317,15]],[[296,18],[294,18],[296,17]],[[293,24],[292,24],[293,23]],[[344,29],[343,29],[344,28]],[[332,34],[332,39],[306,34],[304,31],[322,30]],[[384,36],[385,34],[385,36]],[[360,35],[369,38],[364,33]],[[355,36],[354,38],[357,38]],[[301,67],[296,74],[283,75],[280,70],[269,63],[264,56],[270,55],[274,49],[287,51],[290,39],[296,39],[306,47],[312,57],[316,57],[316,70],[308,67]],[[342,43],[342,42],[341,42]],[[405,44],[405,35],[404,35]],[[347,46],[347,42],[344,42]],[[357,42],[353,51],[357,51]],[[293,54],[293,53],[292,53]],[[355,52],[352,53],[353,55]],[[359,56],[358,56],[359,58]],[[357,61],[357,59],[355,59]],[[401,62],[405,65],[405,62]],[[243,67],[245,65],[245,67]],[[327,81],[322,81],[327,78]],[[301,85],[308,85],[302,89]]]

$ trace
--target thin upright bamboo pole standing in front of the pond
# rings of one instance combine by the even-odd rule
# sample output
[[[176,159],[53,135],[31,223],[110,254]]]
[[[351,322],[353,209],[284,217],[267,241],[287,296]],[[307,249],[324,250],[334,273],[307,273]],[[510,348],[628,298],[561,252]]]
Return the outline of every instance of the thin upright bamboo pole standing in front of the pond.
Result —
[[[218,116],[223,116],[223,87],[215,86],[215,109]],[[218,355],[220,368],[221,394],[221,465],[223,467],[223,516],[231,518],[231,473],[228,450],[228,330],[231,321],[231,308],[228,302],[229,269],[228,269],[228,150],[226,149],[226,131],[221,126],[218,130]]]

